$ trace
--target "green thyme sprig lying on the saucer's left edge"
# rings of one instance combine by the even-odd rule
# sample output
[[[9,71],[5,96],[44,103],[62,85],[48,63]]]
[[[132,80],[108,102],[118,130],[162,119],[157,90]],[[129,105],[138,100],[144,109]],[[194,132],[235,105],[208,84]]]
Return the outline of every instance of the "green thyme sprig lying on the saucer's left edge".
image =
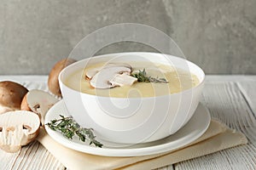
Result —
[[[79,123],[75,122],[72,116],[60,116],[60,119],[54,119],[46,123],[46,125],[54,131],[61,132],[67,139],[73,139],[73,136],[76,134],[81,141],[89,140],[90,144],[102,148],[103,144],[96,140],[92,128],[80,127]]]

